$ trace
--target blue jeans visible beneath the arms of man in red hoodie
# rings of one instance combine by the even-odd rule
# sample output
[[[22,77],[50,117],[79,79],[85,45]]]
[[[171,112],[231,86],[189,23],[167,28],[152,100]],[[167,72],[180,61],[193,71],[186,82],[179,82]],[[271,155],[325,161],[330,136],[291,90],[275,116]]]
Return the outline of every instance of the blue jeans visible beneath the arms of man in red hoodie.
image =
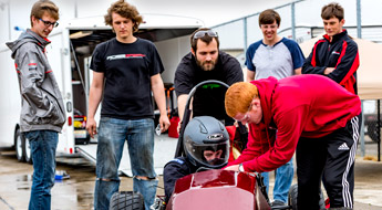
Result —
[[[280,200],[288,203],[289,188],[293,181],[293,159],[290,159],[286,165],[276,169],[276,179],[273,188],[273,200]],[[261,172],[264,177],[264,183],[269,188],[269,172]]]

